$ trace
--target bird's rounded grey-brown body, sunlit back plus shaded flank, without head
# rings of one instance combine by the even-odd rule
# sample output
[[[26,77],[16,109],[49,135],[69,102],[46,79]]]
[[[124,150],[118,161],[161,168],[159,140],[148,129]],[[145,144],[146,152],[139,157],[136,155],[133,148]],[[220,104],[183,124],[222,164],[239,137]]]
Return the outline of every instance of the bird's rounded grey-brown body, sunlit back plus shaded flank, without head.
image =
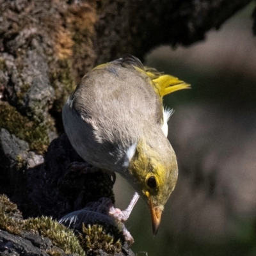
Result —
[[[119,172],[127,149],[150,125],[163,123],[163,107],[133,67],[93,69],[63,108],[65,131],[77,153],[98,168]]]

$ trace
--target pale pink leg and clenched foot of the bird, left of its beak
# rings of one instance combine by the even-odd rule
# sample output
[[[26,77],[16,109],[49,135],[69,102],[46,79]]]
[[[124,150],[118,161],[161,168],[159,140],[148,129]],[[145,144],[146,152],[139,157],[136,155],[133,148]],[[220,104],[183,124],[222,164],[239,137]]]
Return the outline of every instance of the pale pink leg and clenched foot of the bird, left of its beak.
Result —
[[[138,195],[137,192],[135,192],[134,195],[132,196],[132,200],[131,200],[130,204],[124,211],[121,211],[120,209],[115,208],[112,205],[109,208],[109,215],[113,216],[117,221],[120,221],[120,222],[127,221],[132,212],[134,205],[136,204],[136,202],[138,201],[139,198],[140,198],[140,196]]]

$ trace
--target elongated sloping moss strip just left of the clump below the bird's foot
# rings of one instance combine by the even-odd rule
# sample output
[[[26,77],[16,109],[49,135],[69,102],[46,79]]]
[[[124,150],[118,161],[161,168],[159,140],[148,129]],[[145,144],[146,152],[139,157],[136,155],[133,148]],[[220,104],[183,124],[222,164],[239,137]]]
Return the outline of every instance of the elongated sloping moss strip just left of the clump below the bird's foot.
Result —
[[[26,230],[35,230],[40,236],[49,237],[52,243],[63,249],[65,253],[85,255],[74,232],[58,221],[52,220],[51,217],[29,218],[24,222]]]

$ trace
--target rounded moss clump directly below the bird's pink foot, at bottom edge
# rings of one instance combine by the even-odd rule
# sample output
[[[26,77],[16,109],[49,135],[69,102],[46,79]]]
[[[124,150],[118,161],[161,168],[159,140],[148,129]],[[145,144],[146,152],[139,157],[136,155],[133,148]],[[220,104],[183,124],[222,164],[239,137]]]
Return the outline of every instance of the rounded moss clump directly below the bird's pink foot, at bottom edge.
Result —
[[[103,252],[114,255],[122,251],[124,240],[120,241],[122,232],[117,227],[106,226],[104,223],[85,226],[79,235],[81,246],[86,252],[86,255],[96,256]]]

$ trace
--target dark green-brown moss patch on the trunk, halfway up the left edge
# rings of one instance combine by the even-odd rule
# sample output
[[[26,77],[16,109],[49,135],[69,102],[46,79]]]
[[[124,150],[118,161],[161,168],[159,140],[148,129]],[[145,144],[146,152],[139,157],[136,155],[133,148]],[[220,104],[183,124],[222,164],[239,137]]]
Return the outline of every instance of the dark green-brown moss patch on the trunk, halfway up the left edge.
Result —
[[[5,102],[0,103],[0,128],[7,129],[17,138],[29,143],[29,148],[42,154],[49,145],[47,126],[33,122]]]

